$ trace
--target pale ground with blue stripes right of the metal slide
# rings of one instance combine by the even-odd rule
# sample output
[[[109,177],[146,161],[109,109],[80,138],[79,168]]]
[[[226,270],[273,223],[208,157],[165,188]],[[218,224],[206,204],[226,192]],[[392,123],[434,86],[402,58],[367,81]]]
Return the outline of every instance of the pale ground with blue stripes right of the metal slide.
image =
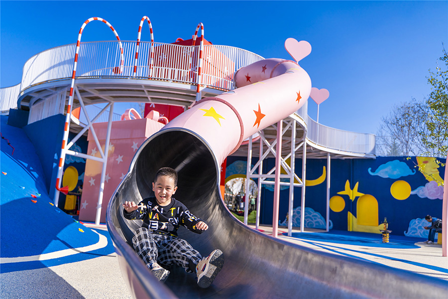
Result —
[[[250,226],[255,228],[255,225]],[[263,230],[263,233],[272,235],[272,227],[260,226],[259,229]],[[288,229],[280,227],[279,231],[287,232]],[[380,234],[354,233],[353,238],[350,236],[347,238],[348,232],[345,232],[344,235],[340,235],[340,238],[339,235],[336,235],[336,239],[342,239],[339,241],[335,238],[322,237],[325,236],[323,233],[311,234],[324,232],[319,230],[307,229],[306,232],[300,233],[300,230],[293,229],[292,232],[293,236],[291,237],[280,234],[278,238],[314,250],[363,259],[448,281],[448,258],[442,256],[442,245],[428,245],[424,242],[409,242],[410,245],[407,245],[406,241],[401,241],[402,239],[406,240],[405,237],[394,238],[391,236],[391,243],[395,244],[389,247],[386,244],[382,246]],[[363,242],[356,242],[358,236],[363,237]],[[332,240],[329,241],[329,239]]]

